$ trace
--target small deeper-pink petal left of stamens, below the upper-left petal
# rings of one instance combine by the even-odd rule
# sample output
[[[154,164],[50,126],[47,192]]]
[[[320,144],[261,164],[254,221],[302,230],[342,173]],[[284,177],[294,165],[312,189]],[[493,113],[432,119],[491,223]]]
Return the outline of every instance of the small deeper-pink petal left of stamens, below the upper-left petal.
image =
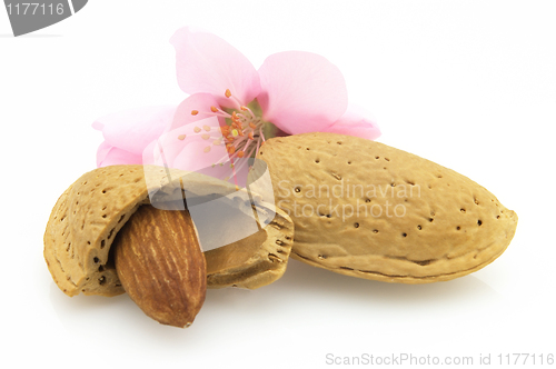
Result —
[[[218,102],[215,97],[210,93],[196,93],[191,94],[176,109],[173,114],[173,120],[171,126],[168,126],[165,132],[173,130],[179,127],[187,126],[189,123],[196,122],[201,119],[214,117],[215,114],[210,111],[211,107],[218,108]],[[191,111],[197,110],[199,113],[193,116]],[[224,118],[220,119],[220,123],[224,124]]]

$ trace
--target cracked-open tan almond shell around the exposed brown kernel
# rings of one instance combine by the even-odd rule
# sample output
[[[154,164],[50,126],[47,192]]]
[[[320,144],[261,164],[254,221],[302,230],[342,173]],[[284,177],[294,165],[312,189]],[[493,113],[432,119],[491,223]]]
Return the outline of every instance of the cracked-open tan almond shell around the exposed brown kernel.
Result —
[[[182,201],[183,183],[188,200],[221,198],[222,207],[237,210],[255,206],[254,211],[258,215],[227,217],[215,211],[211,226],[215,232],[235,232],[245,221],[255,220],[259,232],[205,252],[208,288],[255,289],[284,275],[294,239],[294,223],[284,211],[276,209],[272,200],[266,202],[258,193],[249,196],[245,189],[237,191],[228,182],[200,173],[163,167],[110,166],[82,174],[60,196],[51,211],[43,253],[60,290],[68,296],[123,293],[115,268],[112,242],[116,238],[121,240],[121,235],[117,236],[135,212],[150,205],[149,193],[165,192],[168,193],[165,199],[170,202]],[[261,222],[259,216],[265,221]],[[201,227],[203,225],[197,225],[196,229]],[[210,249],[210,242],[205,247]]]

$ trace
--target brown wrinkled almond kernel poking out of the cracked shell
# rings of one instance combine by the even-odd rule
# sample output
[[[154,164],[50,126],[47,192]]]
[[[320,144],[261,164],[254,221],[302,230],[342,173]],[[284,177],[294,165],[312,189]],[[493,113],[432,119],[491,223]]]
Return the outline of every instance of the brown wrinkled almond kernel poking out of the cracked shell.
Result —
[[[189,212],[142,206],[112,245],[130,298],[163,325],[189,327],[207,290],[206,261]]]

